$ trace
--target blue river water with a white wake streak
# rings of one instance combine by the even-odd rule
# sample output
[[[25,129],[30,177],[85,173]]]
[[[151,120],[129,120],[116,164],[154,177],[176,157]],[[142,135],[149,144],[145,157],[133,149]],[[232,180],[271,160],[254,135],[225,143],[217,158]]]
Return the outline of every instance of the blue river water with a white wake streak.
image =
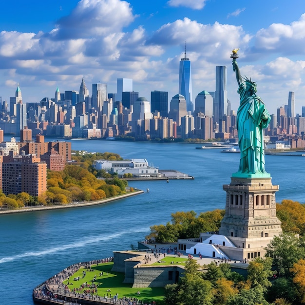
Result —
[[[159,169],[195,179],[129,182],[149,192],[100,206],[0,215],[0,303],[33,305],[35,286],[77,262],[136,247],[150,226],[166,224],[172,212],[224,209],[222,186],[237,171],[239,153],[196,150],[196,146],[201,145],[72,140],[73,150],[145,158]],[[280,185],[277,202],[305,203],[305,157],[266,155],[266,170],[272,183]]]

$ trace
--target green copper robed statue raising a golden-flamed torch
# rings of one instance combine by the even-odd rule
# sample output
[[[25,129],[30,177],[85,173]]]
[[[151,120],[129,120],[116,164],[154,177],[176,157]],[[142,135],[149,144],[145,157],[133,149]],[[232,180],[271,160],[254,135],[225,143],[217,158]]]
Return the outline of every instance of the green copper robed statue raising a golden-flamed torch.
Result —
[[[237,111],[236,127],[240,148],[238,172],[233,177],[269,177],[265,171],[264,132],[268,127],[270,115],[265,109],[263,100],[256,95],[256,83],[243,78],[236,62],[238,49],[231,55],[233,71],[239,85],[240,105]]]

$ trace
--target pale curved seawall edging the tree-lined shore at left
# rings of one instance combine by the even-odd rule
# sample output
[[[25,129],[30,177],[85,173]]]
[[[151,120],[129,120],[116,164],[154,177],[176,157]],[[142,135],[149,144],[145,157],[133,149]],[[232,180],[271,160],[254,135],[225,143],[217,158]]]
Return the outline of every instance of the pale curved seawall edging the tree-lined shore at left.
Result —
[[[28,213],[28,212],[36,212],[36,211],[41,211],[41,210],[58,210],[58,209],[70,209],[70,208],[95,206],[95,205],[100,205],[100,204],[112,202],[112,201],[119,200],[119,199],[124,199],[124,198],[131,197],[131,196],[135,196],[135,195],[138,195],[141,193],[144,193],[144,191],[142,191],[142,190],[133,191],[132,193],[127,193],[127,194],[118,195],[118,196],[107,198],[107,199],[89,201],[89,202],[83,202],[83,203],[69,203],[66,205],[56,205],[56,206],[36,206],[36,207],[30,207],[30,208],[21,208],[19,210],[0,210],[0,215]]]

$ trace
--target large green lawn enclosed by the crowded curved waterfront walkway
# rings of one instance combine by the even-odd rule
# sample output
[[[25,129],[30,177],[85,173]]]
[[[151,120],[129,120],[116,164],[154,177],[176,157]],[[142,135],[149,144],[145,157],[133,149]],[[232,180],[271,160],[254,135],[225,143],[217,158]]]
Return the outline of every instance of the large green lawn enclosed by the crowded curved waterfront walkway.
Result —
[[[164,288],[163,287],[153,287],[153,288],[132,288],[132,284],[124,284],[125,274],[121,272],[112,272],[111,269],[114,263],[102,263],[99,265],[92,265],[92,271],[86,268],[80,268],[76,273],[74,273],[69,280],[65,280],[63,283],[68,285],[69,289],[73,291],[74,288],[79,288],[83,283],[91,285],[92,280],[96,275],[96,280],[94,284],[97,285],[97,294],[101,297],[110,294],[114,296],[118,293],[118,297],[128,297],[137,298],[145,303],[151,303],[155,301],[157,305],[165,305],[163,301]],[[86,276],[83,277],[83,271],[86,271]],[[103,275],[99,274],[103,272]],[[108,272],[108,274],[107,274]],[[74,278],[80,277],[79,281],[74,281]],[[90,289],[90,288],[85,288]],[[107,290],[111,291],[107,291]],[[137,292],[140,291],[140,294]],[[79,292],[79,291],[78,291]]]

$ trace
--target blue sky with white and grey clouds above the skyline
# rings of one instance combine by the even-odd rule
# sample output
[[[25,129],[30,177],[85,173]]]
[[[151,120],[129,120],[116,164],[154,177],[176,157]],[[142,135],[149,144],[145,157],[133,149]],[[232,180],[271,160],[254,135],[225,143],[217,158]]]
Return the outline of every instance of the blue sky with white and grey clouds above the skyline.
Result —
[[[305,106],[304,0],[14,0],[0,14],[0,96],[18,83],[24,102],[79,90],[84,75],[116,92],[116,79],[150,100],[154,90],[178,93],[179,60],[191,60],[193,101],[215,90],[215,66],[228,66],[228,98],[237,110],[231,50],[242,75],[257,82],[270,113],[295,92]]]

